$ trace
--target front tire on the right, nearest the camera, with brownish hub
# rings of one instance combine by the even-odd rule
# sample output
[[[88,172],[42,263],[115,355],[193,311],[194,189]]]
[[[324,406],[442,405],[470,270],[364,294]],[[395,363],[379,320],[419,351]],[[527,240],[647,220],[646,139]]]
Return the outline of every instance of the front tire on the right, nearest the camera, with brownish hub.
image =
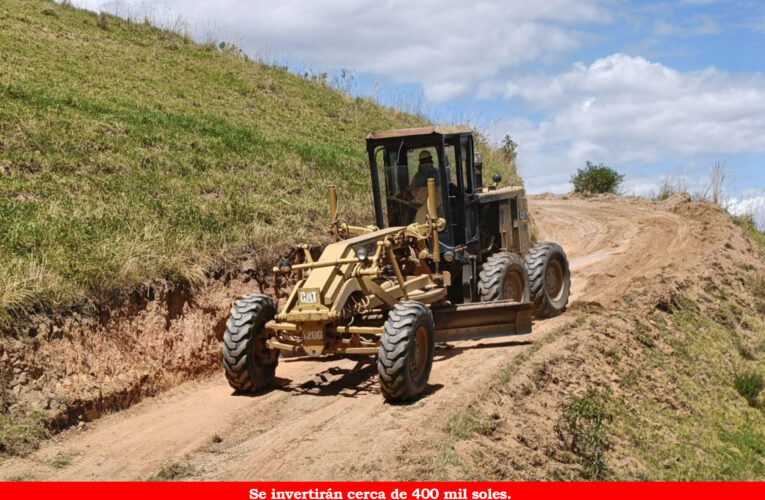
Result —
[[[425,390],[435,348],[433,315],[420,302],[399,302],[383,327],[377,355],[380,390],[392,403],[409,401]]]

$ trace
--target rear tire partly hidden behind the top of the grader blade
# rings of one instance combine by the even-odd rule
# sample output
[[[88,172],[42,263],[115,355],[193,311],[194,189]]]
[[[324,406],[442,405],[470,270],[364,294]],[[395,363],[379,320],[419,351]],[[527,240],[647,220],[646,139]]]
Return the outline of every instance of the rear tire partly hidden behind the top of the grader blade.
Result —
[[[530,290],[526,262],[520,255],[510,252],[491,255],[478,274],[478,294],[481,302],[528,302]]]

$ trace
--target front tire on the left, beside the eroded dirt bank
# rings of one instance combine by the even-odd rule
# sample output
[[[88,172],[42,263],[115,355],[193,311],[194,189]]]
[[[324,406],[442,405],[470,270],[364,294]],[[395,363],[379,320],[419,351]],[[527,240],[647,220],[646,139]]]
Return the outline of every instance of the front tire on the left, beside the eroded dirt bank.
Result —
[[[223,368],[231,387],[238,392],[259,392],[274,379],[279,351],[266,347],[266,322],[276,306],[270,297],[245,295],[231,308],[223,334]]]

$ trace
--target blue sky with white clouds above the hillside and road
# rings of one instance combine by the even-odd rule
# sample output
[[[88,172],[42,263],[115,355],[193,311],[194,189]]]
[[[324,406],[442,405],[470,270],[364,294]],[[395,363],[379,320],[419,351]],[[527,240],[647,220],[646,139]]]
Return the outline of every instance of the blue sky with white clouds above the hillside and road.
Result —
[[[664,180],[703,193],[720,164],[728,209],[765,228],[765,2],[73,3],[326,71],[351,93],[466,122],[495,143],[510,135],[531,193],[570,191],[587,161],[625,174],[625,194],[654,195]]]

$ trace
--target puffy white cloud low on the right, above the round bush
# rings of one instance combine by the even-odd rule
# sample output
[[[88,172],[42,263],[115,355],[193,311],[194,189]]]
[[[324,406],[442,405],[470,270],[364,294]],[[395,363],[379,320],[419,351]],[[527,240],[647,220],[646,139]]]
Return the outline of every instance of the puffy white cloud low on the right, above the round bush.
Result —
[[[547,116],[538,123],[502,122],[493,130],[496,138],[509,131],[520,144],[520,164],[534,166],[522,171],[534,190],[565,183],[585,160],[626,170],[629,177],[643,175],[641,165],[669,158],[765,153],[761,74],[680,72],[614,54],[552,78],[494,82],[482,91],[520,99]]]

